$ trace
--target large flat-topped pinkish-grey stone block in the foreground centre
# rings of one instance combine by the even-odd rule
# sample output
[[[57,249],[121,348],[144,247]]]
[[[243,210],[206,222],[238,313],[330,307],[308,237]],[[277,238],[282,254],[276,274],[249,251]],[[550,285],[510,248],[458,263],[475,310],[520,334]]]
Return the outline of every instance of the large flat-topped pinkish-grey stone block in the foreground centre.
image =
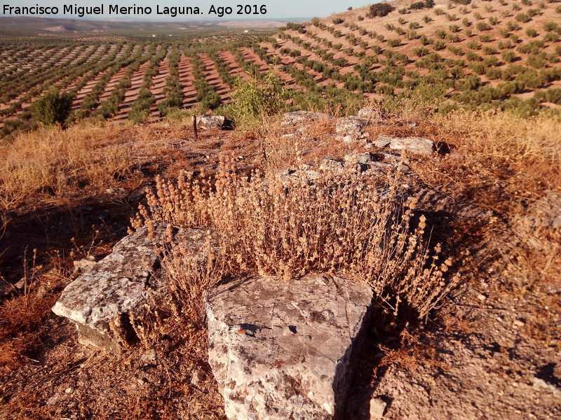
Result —
[[[332,419],[372,290],[331,276],[257,277],[212,288],[209,363],[229,419]]]

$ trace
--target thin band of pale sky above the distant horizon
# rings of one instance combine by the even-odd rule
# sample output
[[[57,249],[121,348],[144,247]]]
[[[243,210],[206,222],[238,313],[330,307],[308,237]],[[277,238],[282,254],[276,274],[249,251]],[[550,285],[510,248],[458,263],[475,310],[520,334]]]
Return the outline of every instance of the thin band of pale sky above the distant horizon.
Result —
[[[238,14],[241,9],[236,5],[232,5],[231,1],[227,0],[201,0],[197,3],[183,3],[180,0],[161,0],[161,1],[150,1],[150,0],[120,0],[118,1],[65,1],[65,0],[20,0],[14,3],[11,1],[6,1],[0,7],[0,18],[45,18],[45,19],[75,19],[75,20],[90,20],[90,21],[107,21],[111,20],[114,22],[137,20],[141,22],[193,22],[193,21],[250,21],[250,20],[310,20],[313,17],[324,18],[326,16],[332,15],[333,13],[344,12],[349,6],[353,8],[359,8],[367,6],[371,3],[378,3],[380,0],[373,0],[367,2],[365,0],[350,0],[342,6],[337,0],[285,0],[280,2],[264,1],[261,4],[247,3],[245,6],[245,13],[248,14]],[[244,5],[243,2],[240,2]],[[119,8],[130,8],[129,12],[126,14],[120,13],[109,13],[109,6],[117,5]],[[58,13],[4,13],[5,10],[10,10],[8,7],[12,8],[46,8],[46,10],[51,10],[53,8],[58,8]],[[71,7],[72,10],[67,11],[67,13],[62,13],[65,6]],[[75,12],[75,8],[92,8],[103,6],[103,13],[96,13],[91,15],[80,16]],[[214,6],[214,9],[212,9]],[[218,8],[230,7],[232,9],[231,14],[223,14],[220,16],[217,12]],[[181,10],[181,8],[196,8],[198,7],[199,14],[177,14],[175,16],[170,13],[161,13],[168,8],[177,8],[176,10]],[[263,7],[263,8],[262,8]],[[142,9],[147,10],[151,8],[151,13],[142,13]],[[158,10],[156,10],[158,8]],[[320,9],[321,11],[318,11]],[[35,10],[35,9],[32,9]],[[135,13],[135,10],[139,10],[140,13]],[[266,10],[266,13],[262,13]],[[243,9],[241,10],[244,11]],[[255,13],[257,12],[257,14]]]

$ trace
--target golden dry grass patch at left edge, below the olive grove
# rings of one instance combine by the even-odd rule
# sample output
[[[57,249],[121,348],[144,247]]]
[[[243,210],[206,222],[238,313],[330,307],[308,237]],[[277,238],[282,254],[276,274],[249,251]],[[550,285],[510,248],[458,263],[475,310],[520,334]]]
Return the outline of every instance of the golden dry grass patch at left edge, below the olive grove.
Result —
[[[95,137],[101,134],[81,127],[42,129],[21,134],[13,144],[3,146],[2,208],[13,209],[34,195],[66,197],[83,188],[83,183],[100,186],[126,176],[132,165],[128,149],[100,145]]]

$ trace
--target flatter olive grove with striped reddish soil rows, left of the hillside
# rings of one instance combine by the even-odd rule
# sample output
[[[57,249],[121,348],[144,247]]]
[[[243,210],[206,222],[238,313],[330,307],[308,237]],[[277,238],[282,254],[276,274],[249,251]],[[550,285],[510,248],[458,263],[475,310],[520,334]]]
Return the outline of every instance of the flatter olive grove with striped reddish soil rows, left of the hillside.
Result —
[[[32,53],[25,71],[9,64],[20,60],[20,52],[4,50],[2,134],[33,128],[30,104],[52,87],[72,97],[68,123],[86,118],[140,123],[194,106],[215,109],[229,102],[238,76],[247,79],[268,69],[248,53],[252,47],[255,43],[245,42],[201,50],[191,41],[62,45],[23,50]]]

